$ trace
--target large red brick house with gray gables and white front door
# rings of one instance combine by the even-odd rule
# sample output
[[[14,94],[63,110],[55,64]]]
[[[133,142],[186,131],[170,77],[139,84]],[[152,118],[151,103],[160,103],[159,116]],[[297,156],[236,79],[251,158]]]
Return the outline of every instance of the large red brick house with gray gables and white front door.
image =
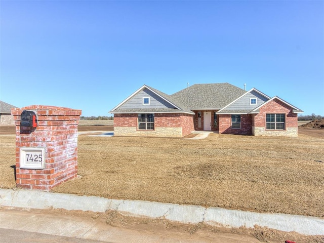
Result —
[[[220,134],[297,137],[303,111],[257,89],[197,84],[167,95],[143,85],[114,107],[114,136],[183,137],[194,130]]]

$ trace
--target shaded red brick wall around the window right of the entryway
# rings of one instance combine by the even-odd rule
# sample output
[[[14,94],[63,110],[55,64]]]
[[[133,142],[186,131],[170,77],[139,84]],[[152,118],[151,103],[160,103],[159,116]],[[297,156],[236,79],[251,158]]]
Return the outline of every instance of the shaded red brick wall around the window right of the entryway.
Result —
[[[220,134],[239,134],[239,135],[251,135],[252,134],[252,114],[241,114],[241,128],[232,129],[231,115],[220,114],[219,115],[219,133]]]

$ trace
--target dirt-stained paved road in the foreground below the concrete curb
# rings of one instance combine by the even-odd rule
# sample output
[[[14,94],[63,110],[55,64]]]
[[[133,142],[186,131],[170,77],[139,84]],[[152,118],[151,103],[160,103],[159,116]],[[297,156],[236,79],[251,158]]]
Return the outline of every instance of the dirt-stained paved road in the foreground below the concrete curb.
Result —
[[[109,242],[109,243],[193,243],[193,242],[259,242],[250,235],[113,227],[91,217],[51,214],[48,211],[3,208],[0,210],[0,242]]]

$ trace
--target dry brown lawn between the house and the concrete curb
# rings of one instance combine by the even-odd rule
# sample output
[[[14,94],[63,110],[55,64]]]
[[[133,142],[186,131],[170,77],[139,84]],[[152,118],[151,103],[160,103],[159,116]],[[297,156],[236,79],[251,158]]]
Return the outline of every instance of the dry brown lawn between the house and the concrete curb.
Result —
[[[15,136],[0,136],[14,188]],[[324,217],[324,140],[211,134],[203,140],[78,138],[79,179],[56,192]]]

